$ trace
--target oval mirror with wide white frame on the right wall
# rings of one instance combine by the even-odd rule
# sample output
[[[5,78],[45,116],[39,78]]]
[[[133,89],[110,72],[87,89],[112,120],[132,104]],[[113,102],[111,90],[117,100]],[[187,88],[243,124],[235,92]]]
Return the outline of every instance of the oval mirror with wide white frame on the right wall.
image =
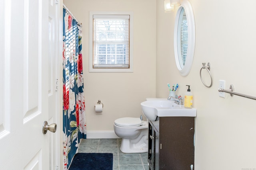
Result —
[[[191,70],[195,42],[196,31],[192,6],[188,0],[182,0],[176,13],[174,27],[174,55],[182,76],[187,76]]]

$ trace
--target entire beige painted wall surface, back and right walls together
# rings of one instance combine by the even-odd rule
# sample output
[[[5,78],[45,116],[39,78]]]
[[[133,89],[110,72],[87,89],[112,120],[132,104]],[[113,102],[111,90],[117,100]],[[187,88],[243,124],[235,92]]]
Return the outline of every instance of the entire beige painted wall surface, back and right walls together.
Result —
[[[196,170],[256,168],[256,101],[218,96],[219,80],[226,88],[256,96],[255,0],[190,0],[196,21],[196,49],[190,74],[180,76],[173,50],[175,13],[164,13],[163,0],[64,0],[83,23],[83,56],[88,131],[113,130],[118,117],[139,116],[146,97],[166,98],[167,83],[186,84],[194,94]],[[76,10],[75,10],[76,9]],[[88,72],[89,11],[134,11],[134,72]],[[142,64],[147,60],[147,65]],[[210,62],[213,86],[206,88],[199,71]],[[203,70],[206,72],[206,70]],[[207,79],[208,74],[203,74]],[[207,82],[208,80],[206,80]],[[94,104],[104,103],[102,115]]]

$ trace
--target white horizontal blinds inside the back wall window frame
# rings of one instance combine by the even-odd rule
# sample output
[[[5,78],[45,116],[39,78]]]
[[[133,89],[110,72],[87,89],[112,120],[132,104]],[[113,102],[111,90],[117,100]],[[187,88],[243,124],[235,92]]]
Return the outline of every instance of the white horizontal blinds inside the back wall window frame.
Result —
[[[93,15],[93,68],[130,68],[130,15]]]

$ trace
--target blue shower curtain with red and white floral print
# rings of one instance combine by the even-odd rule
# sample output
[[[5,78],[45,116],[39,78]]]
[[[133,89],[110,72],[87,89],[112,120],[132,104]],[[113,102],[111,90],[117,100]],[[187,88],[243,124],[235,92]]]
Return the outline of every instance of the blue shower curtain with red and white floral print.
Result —
[[[64,169],[86,139],[82,25],[63,8],[63,156]]]

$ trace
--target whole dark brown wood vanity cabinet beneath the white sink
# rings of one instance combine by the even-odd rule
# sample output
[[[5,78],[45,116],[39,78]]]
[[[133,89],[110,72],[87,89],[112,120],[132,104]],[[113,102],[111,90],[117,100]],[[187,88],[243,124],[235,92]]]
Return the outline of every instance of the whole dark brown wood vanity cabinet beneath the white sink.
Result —
[[[150,170],[194,170],[195,117],[158,117],[148,128]]]

